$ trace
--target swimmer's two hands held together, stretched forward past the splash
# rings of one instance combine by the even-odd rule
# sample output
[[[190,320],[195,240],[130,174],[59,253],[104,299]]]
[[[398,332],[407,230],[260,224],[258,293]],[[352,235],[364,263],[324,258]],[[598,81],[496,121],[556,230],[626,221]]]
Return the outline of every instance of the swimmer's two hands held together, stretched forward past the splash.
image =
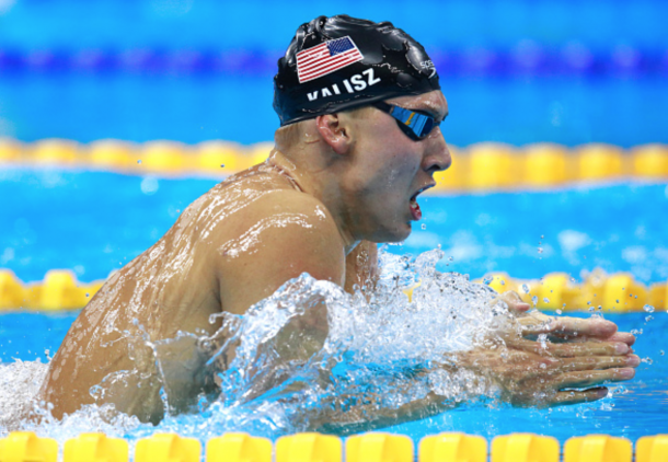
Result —
[[[496,342],[490,338],[485,347],[460,355],[458,363],[496,382],[504,400],[516,405],[595,401],[608,394],[601,384],[635,376],[640,358],[630,348],[635,337],[618,333],[614,323],[529,312],[516,292],[499,298],[520,330],[497,332]]]

